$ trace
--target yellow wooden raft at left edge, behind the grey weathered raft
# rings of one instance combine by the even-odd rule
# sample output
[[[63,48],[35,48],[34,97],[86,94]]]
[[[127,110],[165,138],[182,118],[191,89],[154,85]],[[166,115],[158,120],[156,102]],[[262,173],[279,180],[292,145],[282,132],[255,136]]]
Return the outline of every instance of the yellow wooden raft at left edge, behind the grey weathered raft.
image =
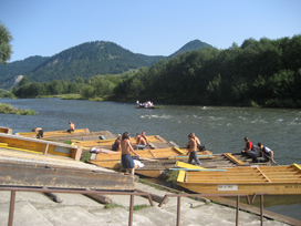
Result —
[[[22,152],[33,152],[40,154],[52,154],[72,157],[76,161],[81,158],[82,148],[63,143],[48,142],[39,138],[29,138],[17,135],[0,133],[0,147]]]

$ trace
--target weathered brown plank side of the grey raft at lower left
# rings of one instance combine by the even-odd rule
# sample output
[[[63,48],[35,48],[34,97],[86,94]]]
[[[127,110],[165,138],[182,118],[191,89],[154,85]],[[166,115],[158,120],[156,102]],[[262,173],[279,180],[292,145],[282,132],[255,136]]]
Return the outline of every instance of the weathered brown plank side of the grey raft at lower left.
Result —
[[[115,172],[94,172],[44,167],[43,165],[0,164],[1,185],[135,189],[137,177],[123,176]]]

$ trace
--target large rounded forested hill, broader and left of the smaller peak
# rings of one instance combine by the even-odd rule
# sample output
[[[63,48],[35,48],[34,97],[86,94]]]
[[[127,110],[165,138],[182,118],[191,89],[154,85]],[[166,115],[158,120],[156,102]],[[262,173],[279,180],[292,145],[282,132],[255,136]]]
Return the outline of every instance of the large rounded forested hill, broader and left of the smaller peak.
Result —
[[[40,64],[29,79],[52,80],[89,79],[97,74],[118,74],[148,64],[135,53],[104,41],[86,42],[55,54]]]

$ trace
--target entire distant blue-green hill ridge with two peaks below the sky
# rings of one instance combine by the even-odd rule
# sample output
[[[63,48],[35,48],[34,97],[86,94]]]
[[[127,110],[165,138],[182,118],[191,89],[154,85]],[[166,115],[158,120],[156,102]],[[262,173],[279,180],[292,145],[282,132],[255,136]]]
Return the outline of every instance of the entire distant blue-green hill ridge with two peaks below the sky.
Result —
[[[97,74],[118,74],[142,66],[150,66],[159,60],[179,53],[199,50],[210,44],[194,40],[169,56],[133,53],[108,41],[93,41],[66,49],[53,56],[30,56],[8,65],[0,64],[0,86],[9,88],[17,75],[25,75],[31,81],[89,79]],[[6,82],[11,81],[11,82]]]

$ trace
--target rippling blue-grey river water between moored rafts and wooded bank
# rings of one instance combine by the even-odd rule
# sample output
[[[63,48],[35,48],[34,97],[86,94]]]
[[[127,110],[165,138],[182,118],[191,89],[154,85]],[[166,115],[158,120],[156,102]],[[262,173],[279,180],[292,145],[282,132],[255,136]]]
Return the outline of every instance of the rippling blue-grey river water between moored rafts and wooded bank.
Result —
[[[270,147],[278,164],[301,164],[300,109],[164,105],[147,110],[136,109],[134,103],[60,99],[0,99],[0,102],[39,112],[39,115],[0,114],[0,126],[11,127],[13,132],[28,132],[38,126],[61,131],[72,121],[77,129],[87,127],[92,132],[127,131],[135,136],[146,131],[147,135],[160,135],[179,146],[185,146],[187,135],[195,132],[212,153],[239,152],[245,147],[243,137],[248,136],[253,144],[261,142]],[[284,196],[279,205],[273,201],[267,208],[301,219],[301,196]]]

